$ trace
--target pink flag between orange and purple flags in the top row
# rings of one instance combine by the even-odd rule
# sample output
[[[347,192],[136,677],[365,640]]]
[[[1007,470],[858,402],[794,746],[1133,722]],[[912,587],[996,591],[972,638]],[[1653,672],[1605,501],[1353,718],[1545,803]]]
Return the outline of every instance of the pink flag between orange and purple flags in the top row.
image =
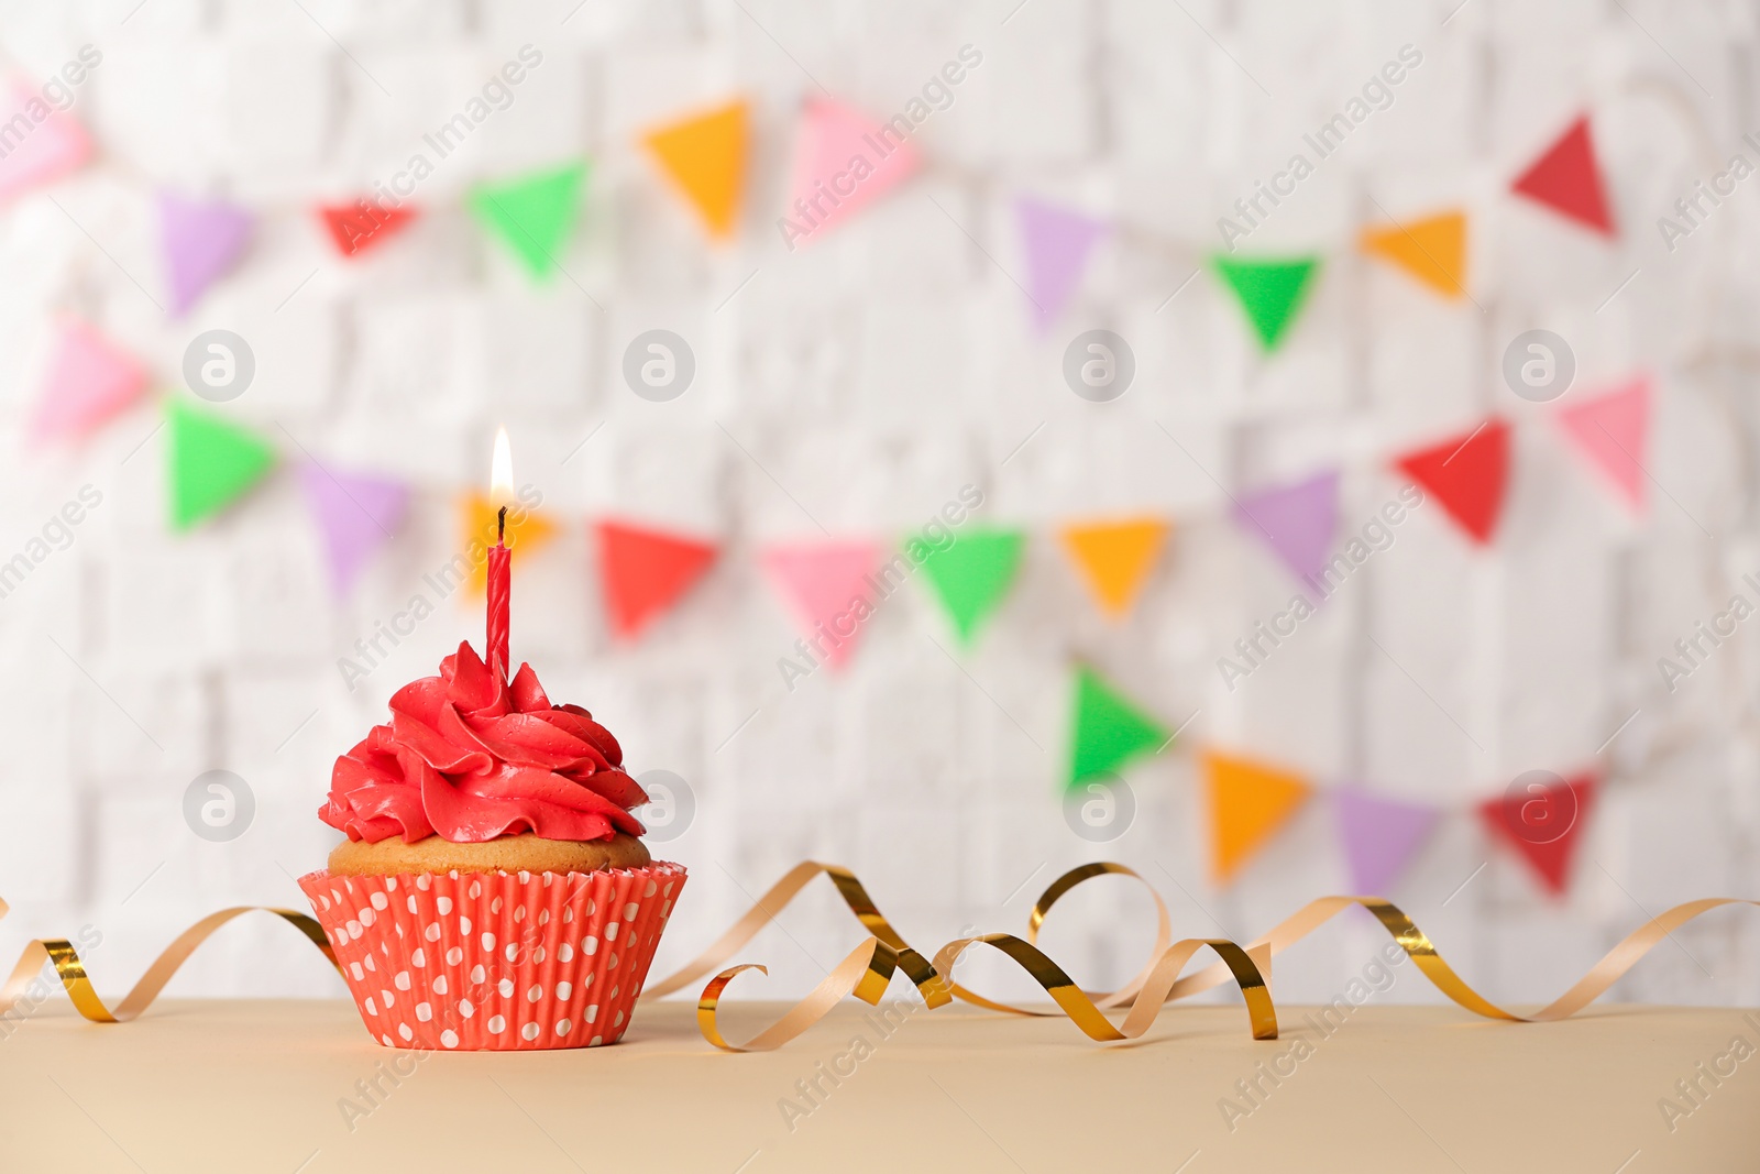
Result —
[[[841,102],[810,99],[801,116],[794,202],[783,216],[788,248],[841,224],[922,164],[899,114],[876,125]]]

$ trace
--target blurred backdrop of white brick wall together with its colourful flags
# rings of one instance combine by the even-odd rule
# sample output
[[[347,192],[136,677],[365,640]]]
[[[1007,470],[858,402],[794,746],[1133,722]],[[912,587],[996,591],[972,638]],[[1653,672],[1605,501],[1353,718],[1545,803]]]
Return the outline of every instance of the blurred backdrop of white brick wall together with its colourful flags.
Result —
[[[480,646],[435,576],[498,426],[551,528],[514,660],[692,871],[656,973],[804,857],[924,950],[1093,859],[1177,936],[1375,884],[1515,1002],[1751,896],[1755,39],[1646,0],[0,4],[0,950],[88,926],[121,991],[299,906],[334,757]],[[861,936],[815,889],[744,991]],[[1151,938],[1109,878],[1044,942],[1098,986]],[[1341,919],[1280,1000],[1383,940]],[[1756,984],[1723,914],[1617,994]],[[273,919],[171,991],[343,994]]]

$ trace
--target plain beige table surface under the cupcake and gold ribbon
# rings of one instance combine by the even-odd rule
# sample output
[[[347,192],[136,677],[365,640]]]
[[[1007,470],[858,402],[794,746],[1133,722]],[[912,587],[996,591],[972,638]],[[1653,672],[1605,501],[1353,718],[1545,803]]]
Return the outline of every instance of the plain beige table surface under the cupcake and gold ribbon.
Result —
[[[1241,1007],[1184,1007],[1102,1047],[1060,1019],[898,1007],[891,1037],[848,1002],[734,1056],[693,1005],[648,1005],[616,1047],[429,1056],[350,1123],[356,1081],[412,1054],[370,1042],[348,1003],[167,1000],[123,1026],[46,1005],[0,1038],[0,1170],[1760,1170],[1760,1054],[1700,1077],[1672,1132],[1658,1111],[1734,1037],[1760,1047],[1760,1014],[1607,1005],[1522,1026],[1364,1007],[1322,1037],[1287,1007],[1283,1038],[1255,1044]],[[732,1033],[767,1010],[723,1017]],[[857,1033],[873,1054],[840,1060]],[[1260,1079],[1230,1130],[1218,1102],[1244,1107],[1236,1081],[1297,1038],[1311,1054]],[[818,1077],[804,1112],[796,1081],[820,1063],[854,1072]]]

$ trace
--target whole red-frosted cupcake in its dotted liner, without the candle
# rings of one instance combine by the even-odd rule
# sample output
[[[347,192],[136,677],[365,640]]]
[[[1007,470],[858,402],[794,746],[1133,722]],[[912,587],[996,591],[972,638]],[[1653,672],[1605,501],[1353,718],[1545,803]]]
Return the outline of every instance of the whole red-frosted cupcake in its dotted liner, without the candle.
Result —
[[[616,1044],[685,869],[649,859],[623,750],[532,665],[468,642],[336,759],[319,810],[348,840],[299,878],[387,1047]]]

